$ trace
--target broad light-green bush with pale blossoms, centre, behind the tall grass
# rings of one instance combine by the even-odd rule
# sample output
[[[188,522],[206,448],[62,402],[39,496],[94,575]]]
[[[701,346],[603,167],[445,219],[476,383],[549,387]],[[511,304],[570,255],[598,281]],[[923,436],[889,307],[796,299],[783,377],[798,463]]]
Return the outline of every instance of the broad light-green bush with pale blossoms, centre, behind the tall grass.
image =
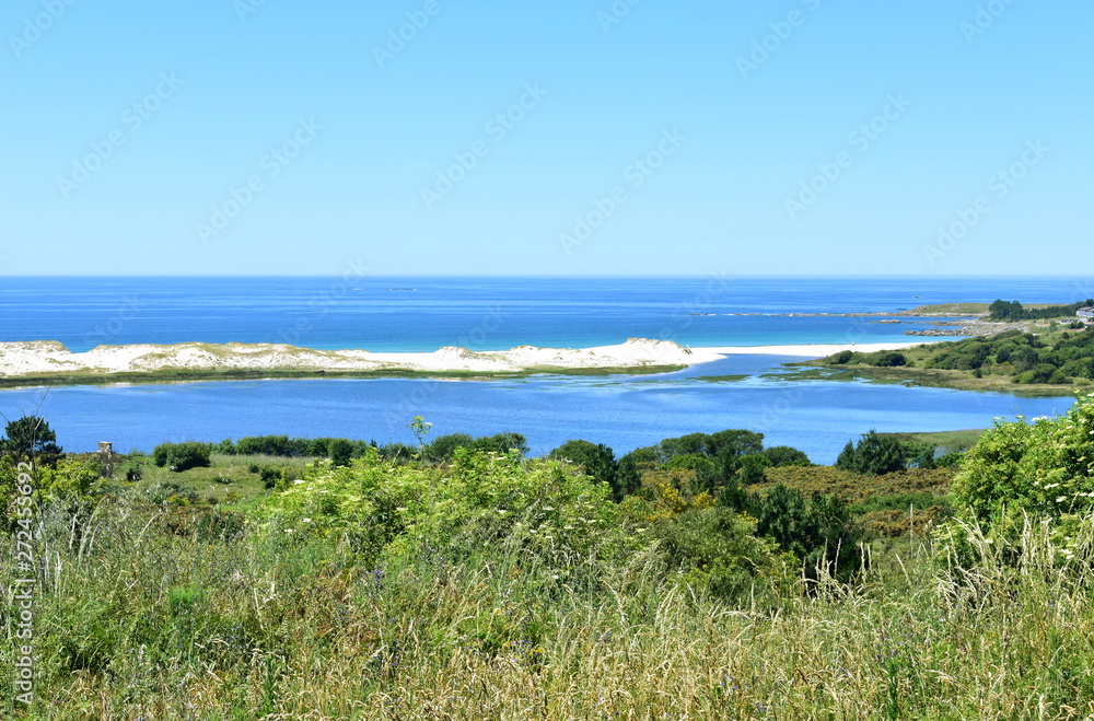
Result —
[[[450,469],[392,466],[371,452],[346,468],[315,464],[259,515],[296,537],[344,537],[366,563],[422,543],[492,543],[517,531],[529,548],[575,551],[610,525],[607,487],[562,463],[466,450],[454,461]]]

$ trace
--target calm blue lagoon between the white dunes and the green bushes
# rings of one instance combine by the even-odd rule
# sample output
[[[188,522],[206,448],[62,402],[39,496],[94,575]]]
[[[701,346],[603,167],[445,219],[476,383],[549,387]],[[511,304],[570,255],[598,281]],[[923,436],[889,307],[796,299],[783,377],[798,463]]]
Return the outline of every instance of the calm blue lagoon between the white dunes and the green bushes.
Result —
[[[734,356],[655,375],[540,375],[522,380],[293,380],[53,387],[42,407],[71,451],[113,441],[151,451],[164,441],[219,441],[267,433],[344,435],[412,443],[414,416],[432,433],[516,431],[533,455],[570,439],[618,454],[662,438],[726,428],[761,431],[768,445],[793,445],[831,463],[847,441],[878,431],[984,428],[993,417],[1062,412],[1070,397],[905,387],[857,381],[778,377],[773,356]],[[720,376],[731,376],[725,380]],[[737,380],[736,376],[743,379]],[[718,380],[707,380],[707,379]],[[45,388],[0,392],[4,412],[34,410]]]

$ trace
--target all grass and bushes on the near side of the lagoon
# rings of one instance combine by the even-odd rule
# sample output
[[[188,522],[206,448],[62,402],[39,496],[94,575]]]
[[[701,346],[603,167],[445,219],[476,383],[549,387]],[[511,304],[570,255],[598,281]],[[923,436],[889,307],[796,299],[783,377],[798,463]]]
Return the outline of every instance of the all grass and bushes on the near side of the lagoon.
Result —
[[[956,476],[908,467],[908,443],[934,457],[970,432],[868,433],[851,452],[874,475],[747,430],[621,458],[422,434],[348,465],[257,438],[114,478],[66,455],[30,504],[0,456],[4,519],[50,559],[37,705],[5,718],[1094,714],[1091,396],[998,425]],[[9,688],[18,655],[0,644]]]

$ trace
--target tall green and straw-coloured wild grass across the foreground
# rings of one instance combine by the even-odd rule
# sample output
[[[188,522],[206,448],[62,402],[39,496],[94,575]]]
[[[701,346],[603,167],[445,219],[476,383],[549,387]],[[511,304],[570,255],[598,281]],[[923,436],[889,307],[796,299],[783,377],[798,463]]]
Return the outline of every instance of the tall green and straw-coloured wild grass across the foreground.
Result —
[[[1094,519],[1067,548],[1034,521],[1011,548],[968,528],[970,568],[909,542],[853,588],[822,573],[736,607],[653,554],[548,563],[469,538],[458,561],[363,568],[126,501],[42,519],[38,700],[4,699],[13,718],[1094,717]]]

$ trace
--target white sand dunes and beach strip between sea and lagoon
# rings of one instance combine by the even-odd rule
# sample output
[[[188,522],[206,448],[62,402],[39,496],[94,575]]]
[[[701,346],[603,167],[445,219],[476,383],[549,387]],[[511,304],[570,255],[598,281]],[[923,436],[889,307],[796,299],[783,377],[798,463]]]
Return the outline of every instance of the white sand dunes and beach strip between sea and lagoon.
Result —
[[[594,348],[537,348],[517,346],[509,350],[470,351],[444,347],[433,352],[375,353],[366,350],[316,350],[282,344],[202,344],[168,346],[97,346],[74,353],[57,341],[0,344],[0,376],[49,374],[142,373],[166,370],[218,372],[247,371],[412,371],[513,373],[574,369],[642,369],[688,367],[736,354],[822,358],[843,349],[873,351],[917,346],[866,344],[815,346],[680,347],[671,340],[630,338],[615,346]]]

